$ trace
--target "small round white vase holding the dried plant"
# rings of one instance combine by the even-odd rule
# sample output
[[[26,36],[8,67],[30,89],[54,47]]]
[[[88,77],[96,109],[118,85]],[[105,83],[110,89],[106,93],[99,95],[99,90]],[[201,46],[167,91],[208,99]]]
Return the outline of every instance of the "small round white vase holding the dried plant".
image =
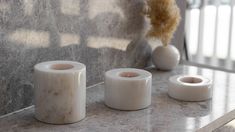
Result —
[[[152,61],[157,69],[172,70],[179,64],[180,53],[173,45],[158,46],[152,53]]]

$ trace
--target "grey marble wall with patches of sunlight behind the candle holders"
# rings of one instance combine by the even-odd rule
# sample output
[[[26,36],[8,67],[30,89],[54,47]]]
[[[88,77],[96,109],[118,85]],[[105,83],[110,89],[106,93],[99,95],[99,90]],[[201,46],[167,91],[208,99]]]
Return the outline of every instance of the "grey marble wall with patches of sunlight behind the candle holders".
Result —
[[[33,104],[33,66],[49,60],[87,66],[87,86],[115,67],[143,68],[143,0],[0,0],[0,115]]]

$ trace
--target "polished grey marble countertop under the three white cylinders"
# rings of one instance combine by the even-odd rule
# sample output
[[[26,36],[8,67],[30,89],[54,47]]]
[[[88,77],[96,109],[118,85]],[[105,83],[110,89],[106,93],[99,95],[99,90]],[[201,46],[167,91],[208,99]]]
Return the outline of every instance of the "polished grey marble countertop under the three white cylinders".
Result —
[[[118,111],[104,105],[103,84],[87,90],[87,115],[78,123],[50,125],[34,118],[34,108],[0,118],[1,132],[188,132],[212,131],[235,118],[235,74],[192,66],[153,74],[152,104],[139,111]],[[199,74],[213,79],[213,98],[180,102],[167,95],[167,80],[176,74]]]

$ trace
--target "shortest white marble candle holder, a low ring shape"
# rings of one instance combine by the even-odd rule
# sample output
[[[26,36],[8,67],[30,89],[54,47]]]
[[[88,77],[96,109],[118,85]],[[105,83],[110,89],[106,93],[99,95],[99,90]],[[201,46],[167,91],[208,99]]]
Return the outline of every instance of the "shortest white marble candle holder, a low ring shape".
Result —
[[[176,75],[169,78],[168,94],[182,101],[204,101],[212,97],[212,81],[199,75]]]

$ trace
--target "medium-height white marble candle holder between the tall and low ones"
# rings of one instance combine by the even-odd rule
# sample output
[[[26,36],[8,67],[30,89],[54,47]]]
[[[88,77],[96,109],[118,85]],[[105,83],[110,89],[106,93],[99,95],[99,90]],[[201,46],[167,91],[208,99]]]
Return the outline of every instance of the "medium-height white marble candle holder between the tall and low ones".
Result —
[[[119,110],[139,110],[151,104],[152,74],[134,68],[105,73],[105,104]]]

